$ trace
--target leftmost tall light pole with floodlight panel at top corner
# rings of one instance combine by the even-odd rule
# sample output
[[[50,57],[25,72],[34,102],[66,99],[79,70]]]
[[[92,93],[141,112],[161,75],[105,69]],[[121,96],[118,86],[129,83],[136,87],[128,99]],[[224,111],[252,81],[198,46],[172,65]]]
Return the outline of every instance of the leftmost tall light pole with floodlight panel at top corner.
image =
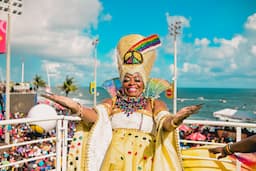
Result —
[[[22,14],[22,0],[1,0],[0,11],[7,13],[7,52],[6,52],[6,101],[5,119],[10,119],[10,60],[11,60],[11,15]],[[5,127],[5,143],[10,143],[8,127]]]

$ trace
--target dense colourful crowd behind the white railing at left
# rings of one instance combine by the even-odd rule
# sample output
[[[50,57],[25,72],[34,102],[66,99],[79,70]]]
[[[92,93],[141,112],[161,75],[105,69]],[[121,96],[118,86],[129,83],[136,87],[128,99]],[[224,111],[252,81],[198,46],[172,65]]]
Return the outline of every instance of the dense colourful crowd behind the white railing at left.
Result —
[[[38,101],[38,103],[46,103],[47,101]],[[50,103],[49,101],[47,104],[54,107],[57,111],[60,111],[58,108],[59,106]],[[65,114],[67,115],[66,110],[58,112],[59,114]],[[2,116],[0,120],[4,120],[4,115],[0,114]],[[21,119],[26,117],[26,114],[17,112],[11,114],[12,119]],[[71,138],[74,135],[75,131],[75,122],[69,122],[69,131],[68,131],[68,137]],[[6,145],[4,142],[5,140],[5,129],[3,126],[0,126],[0,144]],[[56,137],[56,131],[55,129],[52,129],[48,132],[39,133],[33,129],[31,129],[30,125],[27,123],[21,123],[21,124],[13,124],[8,125],[8,132],[10,134],[10,143],[11,144],[17,144],[22,142],[28,142],[32,140],[40,140],[43,138],[51,138]],[[5,148],[0,150],[0,164],[10,164],[17,161],[22,161],[23,159],[31,159],[33,157],[40,157],[43,155],[49,155],[56,153],[56,142],[54,140],[50,141],[44,141],[44,142],[37,142],[27,145],[19,145],[19,146],[13,146],[11,148]],[[1,168],[1,171],[7,171],[7,170],[17,170],[17,171],[47,171],[52,170],[56,166],[56,157],[46,157],[42,159],[36,159],[34,161],[30,162],[24,162],[20,163],[14,166]]]

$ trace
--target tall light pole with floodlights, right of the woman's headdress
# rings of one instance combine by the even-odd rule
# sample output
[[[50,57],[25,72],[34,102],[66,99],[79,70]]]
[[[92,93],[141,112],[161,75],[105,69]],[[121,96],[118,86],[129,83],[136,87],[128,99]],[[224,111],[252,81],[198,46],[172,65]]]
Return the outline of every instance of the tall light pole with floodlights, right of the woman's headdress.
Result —
[[[181,22],[175,21],[169,26],[170,35],[174,40],[174,67],[173,67],[173,114],[177,112],[177,35],[180,34]]]

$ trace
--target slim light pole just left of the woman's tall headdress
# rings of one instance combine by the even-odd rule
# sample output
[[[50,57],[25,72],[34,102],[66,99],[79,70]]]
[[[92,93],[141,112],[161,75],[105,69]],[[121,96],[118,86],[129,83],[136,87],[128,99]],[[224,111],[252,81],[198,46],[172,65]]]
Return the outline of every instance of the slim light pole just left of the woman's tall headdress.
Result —
[[[97,45],[99,43],[99,39],[95,39],[92,42],[92,45],[94,46],[94,96],[93,96],[93,106],[95,107],[97,104]]]

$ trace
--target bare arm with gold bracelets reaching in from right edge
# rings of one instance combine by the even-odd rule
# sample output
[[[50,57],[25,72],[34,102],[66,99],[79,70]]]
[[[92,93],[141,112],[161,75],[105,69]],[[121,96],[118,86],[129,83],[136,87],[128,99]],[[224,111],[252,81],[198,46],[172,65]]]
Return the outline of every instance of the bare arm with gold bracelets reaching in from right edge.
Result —
[[[234,153],[253,153],[256,152],[256,135],[252,135],[236,143],[229,143],[224,147],[215,147],[209,149],[210,153],[220,154],[218,159],[232,155]]]

